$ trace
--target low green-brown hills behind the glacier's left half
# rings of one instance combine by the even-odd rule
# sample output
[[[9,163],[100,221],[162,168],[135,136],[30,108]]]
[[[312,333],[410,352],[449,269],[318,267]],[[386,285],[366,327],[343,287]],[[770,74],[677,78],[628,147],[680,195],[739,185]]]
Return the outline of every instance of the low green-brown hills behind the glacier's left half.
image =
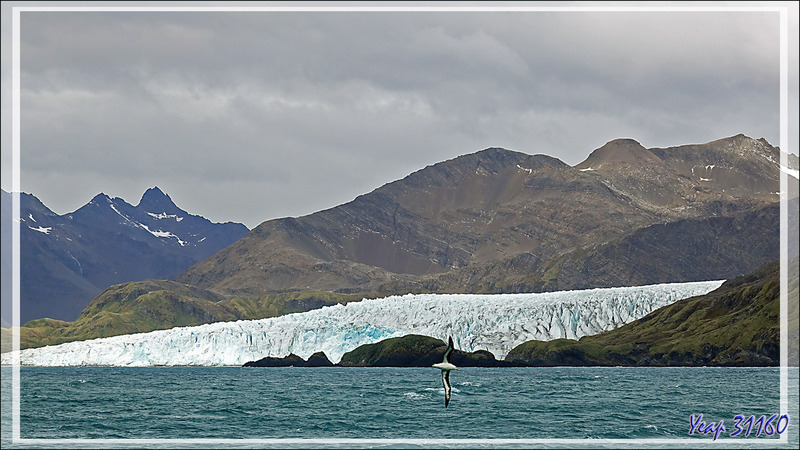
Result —
[[[111,286],[74,322],[32,320],[20,327],[20,348],[43,347],[121,334],[305,312],[361,300],[360,295],[319,291],[227,299],[214,292],[164,280]],[[2,350],[11,349],[11,330],[2,329]]]

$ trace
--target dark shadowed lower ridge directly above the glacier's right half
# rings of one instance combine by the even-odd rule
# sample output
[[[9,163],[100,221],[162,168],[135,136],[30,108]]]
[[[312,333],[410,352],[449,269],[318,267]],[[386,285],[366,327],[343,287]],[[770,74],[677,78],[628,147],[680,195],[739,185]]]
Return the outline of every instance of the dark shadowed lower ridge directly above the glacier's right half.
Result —
[[[797,233],[798,199],[788,201],[789,235]],[[681,219],[572,250],[546,263],[532,253],[467,267],[425,287],[461,285],[471,292],[538,292],[728,279],[780,253],[780,204],[729,216]],[[790,248],[789,256],[796,256]],[[687,264],[690,261],[691,264]]]

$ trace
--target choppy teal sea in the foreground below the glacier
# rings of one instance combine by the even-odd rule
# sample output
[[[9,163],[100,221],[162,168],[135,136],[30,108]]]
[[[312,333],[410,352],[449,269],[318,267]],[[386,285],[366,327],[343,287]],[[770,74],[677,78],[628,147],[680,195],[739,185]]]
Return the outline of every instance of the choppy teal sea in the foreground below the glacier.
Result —
[[[785,419],[779,373],[464,368],[445,408],[432,368],[22,367],[12,441],[3,367],[2,447],[795,448],[798,372]]]

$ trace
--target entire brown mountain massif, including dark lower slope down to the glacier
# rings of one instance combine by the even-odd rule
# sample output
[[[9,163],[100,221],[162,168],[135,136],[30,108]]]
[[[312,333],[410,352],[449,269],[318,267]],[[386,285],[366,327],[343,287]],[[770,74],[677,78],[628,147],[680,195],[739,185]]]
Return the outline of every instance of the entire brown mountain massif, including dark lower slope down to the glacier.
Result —
[[[176,281],[258,297],[729,278],[778,257],[780,156],[743,135],[665,149],[614,140],[574,167],[489,148],[331,209],[264,222]],[[796,183],[791,189],[796,197]],[[690,239],[675,251],[659,226],[673,242],[695,236],[705,245]],[[635,251],[637,242],[653,245]],[[704,248],[707,257],[695,263]]]

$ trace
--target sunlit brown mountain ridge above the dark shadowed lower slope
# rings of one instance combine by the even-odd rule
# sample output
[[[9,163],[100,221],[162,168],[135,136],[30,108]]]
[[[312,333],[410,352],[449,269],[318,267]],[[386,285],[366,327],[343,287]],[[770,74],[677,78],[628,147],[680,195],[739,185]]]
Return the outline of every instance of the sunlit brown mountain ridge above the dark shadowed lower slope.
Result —
[[[332,208],[263,222],[176,280],[253,296],[302,289],[390,294],[424,291],[426,283],[462,292],[442,280],[523,254],[546,270],[576,248],[643,227],[774,204],[776,155],[766,141],[743,135],[668,149],[618,139],[574,167],[491,147]],[[603,162],[591,167],[596,161]],[[706,178],[709,171],[721,175]]]

